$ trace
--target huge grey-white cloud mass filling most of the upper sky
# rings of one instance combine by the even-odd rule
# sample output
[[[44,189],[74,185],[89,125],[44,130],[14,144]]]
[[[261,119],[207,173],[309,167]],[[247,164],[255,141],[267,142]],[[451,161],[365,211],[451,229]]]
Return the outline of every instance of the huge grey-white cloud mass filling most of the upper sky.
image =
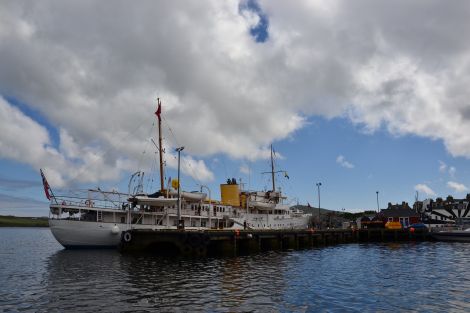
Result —
[[[470,46],[455,34],[470,28],[466,6],[261,0],[269,40],[256,43],[259,18],[236,0],[1,2],[0,95],[61,140],[51,147],[44,127],[17,117],[31,138],[20,134],[2,157],[59,169],[57,179],[70,164],[82,180],[113,179],[141,157],[157,95],[168,149],[184,145],[205,179],[196,158],[266,158],[309,115],[442,140],[470,157]]]

